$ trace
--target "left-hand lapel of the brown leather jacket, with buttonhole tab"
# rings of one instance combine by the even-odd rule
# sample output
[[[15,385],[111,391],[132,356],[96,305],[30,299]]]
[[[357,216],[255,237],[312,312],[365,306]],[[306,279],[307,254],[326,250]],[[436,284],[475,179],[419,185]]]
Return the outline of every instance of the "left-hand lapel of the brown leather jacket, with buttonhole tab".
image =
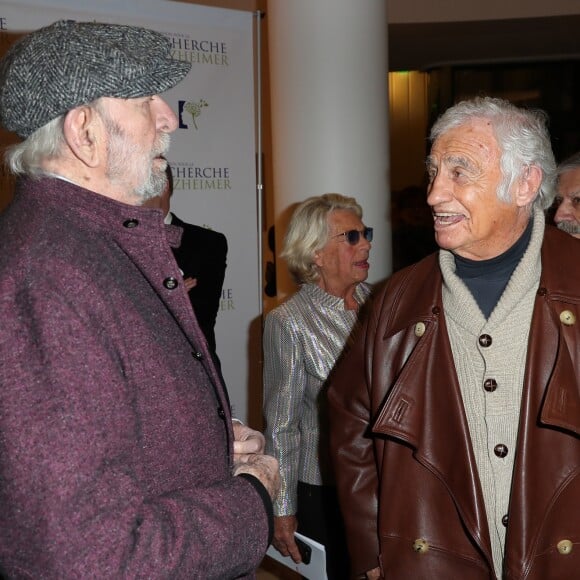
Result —
[[[394,341],[399,346],[404,344],[403,350],[410,354],[405,361],[387,359],[385,362],[402,370],[377,415],[373,432],[413,446],[417,461],[449,490],[466,529],[491,562],[483,494],[447,337],[440,290],[433,301],[433,287],[441,287],[441,278],[434,273],[428,281],[411,280],[409,286],[424,290],[412,305],[393,307],[397,314],[389,321],[384,337],[391,344],[383,346],[390,351]],[[381,379],[385,379],[382,382],[388,389],[391,370],[384,372],[385,377]],[[393,369],[392,376],[394,372]]]

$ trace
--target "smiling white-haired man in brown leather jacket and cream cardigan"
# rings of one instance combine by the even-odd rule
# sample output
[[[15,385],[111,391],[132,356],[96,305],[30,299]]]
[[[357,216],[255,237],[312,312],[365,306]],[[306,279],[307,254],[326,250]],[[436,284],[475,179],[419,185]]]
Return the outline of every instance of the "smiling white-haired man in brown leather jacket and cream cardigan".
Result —
[[[575,578],[580,241],[545,225],[546,118],[475,98],[431,143],[440,249],[377,293],[328,392],[353,570]]]

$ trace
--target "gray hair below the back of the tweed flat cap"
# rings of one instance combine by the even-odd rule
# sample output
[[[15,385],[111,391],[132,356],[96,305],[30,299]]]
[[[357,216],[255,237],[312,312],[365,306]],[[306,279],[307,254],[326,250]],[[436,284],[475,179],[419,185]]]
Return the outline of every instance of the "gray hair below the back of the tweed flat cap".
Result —
[[[61,115],[37,129],[28,139],[6,149],[6,163],[14,175],[43,175],[44,163],[58,157],[64,144],[64,117]]]

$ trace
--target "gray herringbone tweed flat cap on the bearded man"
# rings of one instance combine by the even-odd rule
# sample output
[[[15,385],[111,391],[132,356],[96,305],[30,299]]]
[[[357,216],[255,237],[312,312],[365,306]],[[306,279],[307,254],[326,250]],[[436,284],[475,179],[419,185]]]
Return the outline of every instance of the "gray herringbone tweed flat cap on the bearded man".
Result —
[[[166,36],[136,26],[60,20],[40,28],[0,60],[0,123],[28,137],[99,97],[163,93],[191,68],[170,50]]]

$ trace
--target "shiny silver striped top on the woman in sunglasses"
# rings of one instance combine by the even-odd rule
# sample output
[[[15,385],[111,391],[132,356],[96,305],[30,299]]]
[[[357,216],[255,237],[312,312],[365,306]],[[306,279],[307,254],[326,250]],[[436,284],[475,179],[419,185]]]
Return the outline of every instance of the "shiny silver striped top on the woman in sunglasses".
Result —
[[[355,299],[370,294],[359,284]],[[357,321],[344,300],[315,284],[304,284],[266,316],[264,328],[264,415],[266,450],[280,462],[282,486],[277,516],[296,513],[298,480],[332,483],[326,447],[326,405],[321,392]]]

